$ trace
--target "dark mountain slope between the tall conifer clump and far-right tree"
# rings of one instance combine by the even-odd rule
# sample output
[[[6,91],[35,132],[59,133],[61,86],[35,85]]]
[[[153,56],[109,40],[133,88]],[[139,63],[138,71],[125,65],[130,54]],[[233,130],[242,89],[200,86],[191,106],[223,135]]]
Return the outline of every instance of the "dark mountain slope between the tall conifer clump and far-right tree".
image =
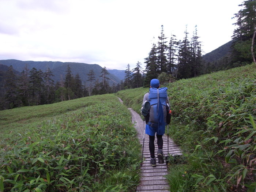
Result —
[[[231,40],[226,44],[218,47],[217,49],[214,49],[210,53],[206,53],[205,55],[203,55],[203,60],[207,62],[214,62],[221,59],[222,57],[226,56],[227,53],[229,53],[230,47],[233,44],[233,42],[234,40]]]

